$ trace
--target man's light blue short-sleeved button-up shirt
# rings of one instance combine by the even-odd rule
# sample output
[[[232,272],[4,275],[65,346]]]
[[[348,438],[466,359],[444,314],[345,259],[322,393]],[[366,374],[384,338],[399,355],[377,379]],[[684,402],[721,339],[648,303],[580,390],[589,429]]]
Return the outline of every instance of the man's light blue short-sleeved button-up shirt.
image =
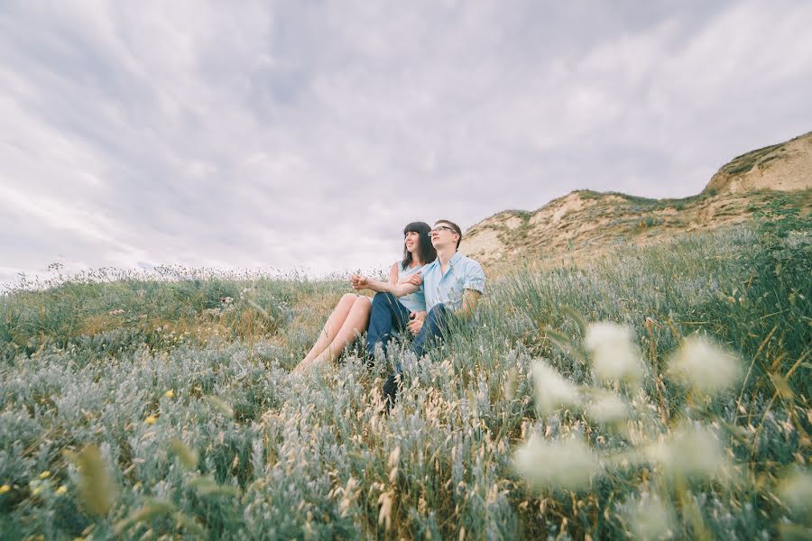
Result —
[[[484,293],[485,278],[482,266],[460,252],[455,253],[448,262],[445,274],[439,259],[423,265],[421,273],[423,285],[420,289],[426,296],[426,310],[443,303],[456,311],[462,307],[466,289]]]

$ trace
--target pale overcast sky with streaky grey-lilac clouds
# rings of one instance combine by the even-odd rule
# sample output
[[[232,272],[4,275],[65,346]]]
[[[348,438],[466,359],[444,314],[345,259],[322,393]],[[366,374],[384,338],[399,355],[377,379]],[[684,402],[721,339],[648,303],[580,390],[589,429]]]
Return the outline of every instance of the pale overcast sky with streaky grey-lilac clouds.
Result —
[[[0,3],[0,283],[380,269],[812,130],[812,2]],[[463,241],[465,242],[465,240]]]

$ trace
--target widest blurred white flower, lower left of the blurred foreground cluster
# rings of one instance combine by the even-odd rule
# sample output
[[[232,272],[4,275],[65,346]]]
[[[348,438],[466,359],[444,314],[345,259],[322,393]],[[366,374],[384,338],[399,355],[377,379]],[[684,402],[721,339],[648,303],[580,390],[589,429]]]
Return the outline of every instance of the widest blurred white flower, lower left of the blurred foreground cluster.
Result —
[[[547,443],[533,435],[513,456],[516,471],[536,488],[576,490],[599,471],[595,455],[576,439]]]

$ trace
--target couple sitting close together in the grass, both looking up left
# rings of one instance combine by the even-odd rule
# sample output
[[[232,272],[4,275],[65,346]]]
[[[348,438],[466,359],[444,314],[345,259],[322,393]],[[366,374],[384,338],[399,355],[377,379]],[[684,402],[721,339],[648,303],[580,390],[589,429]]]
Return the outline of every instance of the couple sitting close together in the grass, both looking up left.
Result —
[[[379,344],[385,357],[392,333],[406,330],[415,335],[412,350],[420,358],[430,344],[448,335],[451,319],[474,312],[485,277],[478,262],[457,252],[462,240],[459,226],[448,220],[439,220],[434,228],[414,222],[403,234],[403,260],[392,264],[389,280],[354,274],[353,288],[372,289],[377,292],[374,298],[351,293],[342,297],[294,371],[336,359],[364,329],[369,362],[374,362]],[[398,362],[383,386],[384,398],[394,399],[400,371]]]

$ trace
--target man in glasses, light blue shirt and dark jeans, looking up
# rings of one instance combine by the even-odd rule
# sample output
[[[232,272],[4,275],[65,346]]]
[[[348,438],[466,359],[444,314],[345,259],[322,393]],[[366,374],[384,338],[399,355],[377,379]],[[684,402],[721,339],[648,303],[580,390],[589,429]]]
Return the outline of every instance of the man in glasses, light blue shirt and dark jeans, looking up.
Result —
[[[373,300],[366,335],[366,351],[370,359],[374,359],[377,344],[381,344],[385,355],[393,329],[406,328],[411,334],[417,335],[412,349],[420,358],[430,344],[448,335],[450,319],[465,318],[474,313],[476,303],[484,293],[485,276],[482,266],[457,252],[462,241],[459,225],[448,220],[438,220],[429,235],[431,244],[437,250],[437,259],[420,271],[420,286],[409,282],[392,285],[359,275],[352,277],[353,288],[378,292]],[[427,312],[410,313],[397,298],[420,289],[426,297]],[[397,392],[397,376],[400,371],[401,365],[398,363],[395,373],[383,385],[384,398],[389,399],[390,404]]]

